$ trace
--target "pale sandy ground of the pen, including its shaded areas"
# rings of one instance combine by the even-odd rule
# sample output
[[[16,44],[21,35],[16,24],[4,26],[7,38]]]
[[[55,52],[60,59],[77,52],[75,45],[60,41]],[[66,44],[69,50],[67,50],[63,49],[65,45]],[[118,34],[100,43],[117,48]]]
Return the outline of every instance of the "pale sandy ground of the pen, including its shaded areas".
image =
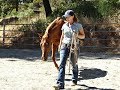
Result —
[[[0,49],[0,90],[54,90],[58,71],[50,57],[42,62],[40,56],[40,50]],[[120,90],[119,55],[81,53],[78,65],[77,86],[66,65],[65,90]]]

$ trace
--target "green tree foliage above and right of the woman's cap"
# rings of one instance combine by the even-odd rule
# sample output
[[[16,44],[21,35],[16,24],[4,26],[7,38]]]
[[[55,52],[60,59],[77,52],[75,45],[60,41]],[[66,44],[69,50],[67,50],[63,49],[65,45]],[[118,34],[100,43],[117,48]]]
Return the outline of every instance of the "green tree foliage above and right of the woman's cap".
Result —
[[[53,1],[53,0],[52,0]],[[55,0],[54,0],[55,1]],[[73,9],[78,16],[105,18],[120,10],[119,0],[56,0],[55,14]],[[58,4],[60,3],[60,4]]]

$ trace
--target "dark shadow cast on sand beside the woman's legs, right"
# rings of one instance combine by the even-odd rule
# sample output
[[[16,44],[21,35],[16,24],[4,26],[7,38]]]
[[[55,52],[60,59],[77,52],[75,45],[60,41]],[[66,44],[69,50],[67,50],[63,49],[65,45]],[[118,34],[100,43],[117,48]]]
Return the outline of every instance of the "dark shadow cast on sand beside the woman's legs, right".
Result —
[[[67,74],[71,75],[71,74]],[[102,78],[107,75],[107,71],[98,69],[98,68],[87,68],[87,67],[82,67],[79,68],[79,77],[78,80],[88,80],[88,79],[96,79],[96,78]],[[71,79],[65,79],[66,81],[71,81]],[[92,86],[87,86],[85,84],[78,84],[80,88],[77,88],[76,90],[115,90],[115,89],[110,89],[110,88],[97,88],[97,87],[92,87]],[[81,87],[84,87],[86,89],[81,89]],[[69,88],[69,90],[72,90]]]

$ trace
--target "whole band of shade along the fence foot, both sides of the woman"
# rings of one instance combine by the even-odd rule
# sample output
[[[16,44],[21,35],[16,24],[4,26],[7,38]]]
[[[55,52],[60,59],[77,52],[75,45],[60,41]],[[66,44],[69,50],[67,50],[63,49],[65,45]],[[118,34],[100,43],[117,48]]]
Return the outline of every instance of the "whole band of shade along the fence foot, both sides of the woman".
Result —
[[[36,59],[41,59],[41,50],[40,49],[0,49],[0,58],[17,58],[25,59],[28,61],[34,61]],[[80,59],[86,60],[99,60],[99,59],[113,59],[120,60],[120,55],[106,54],[106,53],[80,53]],[[56,60],[59,60],[59,53],[56,53]],[[14,60],[10,60],[14,61]],[[51,62],[51,52],[48,56],[48,62]]]

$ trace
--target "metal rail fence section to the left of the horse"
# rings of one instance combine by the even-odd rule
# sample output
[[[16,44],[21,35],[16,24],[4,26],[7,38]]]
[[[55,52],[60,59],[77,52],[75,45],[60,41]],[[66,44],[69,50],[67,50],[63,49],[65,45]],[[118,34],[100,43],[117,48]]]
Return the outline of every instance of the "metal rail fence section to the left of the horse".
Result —
[[[38,48],[40,38],[35,24],[7,24],[0,26],[1,48]]]

